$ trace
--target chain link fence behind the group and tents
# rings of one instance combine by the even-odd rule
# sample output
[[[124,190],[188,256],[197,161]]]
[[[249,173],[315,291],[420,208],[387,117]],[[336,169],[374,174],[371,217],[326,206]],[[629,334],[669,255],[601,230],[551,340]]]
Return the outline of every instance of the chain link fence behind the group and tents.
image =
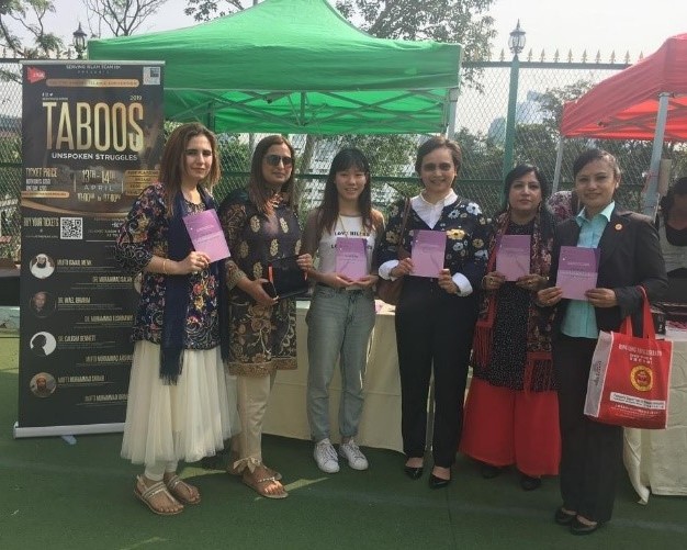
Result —
[[[520,63],[515,112],[515,162],[534,164],[550,181],[553,180],[562,102],[579,96],[626,66],[571,60],[538,63],[528,59]],[[477,82],[463,82],[458,101],[453,137],[463,149],[463,168],[457,192],[475,200],[487,215],[492,215],[499,209],[503,193],[510,64],[502,60],[464,64],[464,67],[477,69]],[[8,75],[19,77],[20,74],[19,60],[0,59],[0,75],[3,76],[0,80],[0,257],[15,260],[19,260],[21,233],[21,86],[19,78],[12,80]],[[262,135],[218,136],[223,177],[215,194],[219,200],[246,183],[250,153],[260,137]],[[346,146],[359,147],[370,159],[375,207],[385,211],[396,198],[417,193],[418,178],[413,166],[417,146],[426,136],[290,137],[296,149],[297,193],[303,214],[320,203],[331,159]],[[619,157],[623,171],[619,200],[630,209],[641,210],[641,190],[650,165],[652,144],[623,141],[594,143]],[[560,189],[571,188],[572,162],[589,145],[588,139],[564,141]],[[677,156],[679,151],[678,148],[666,148],[667,156]]]

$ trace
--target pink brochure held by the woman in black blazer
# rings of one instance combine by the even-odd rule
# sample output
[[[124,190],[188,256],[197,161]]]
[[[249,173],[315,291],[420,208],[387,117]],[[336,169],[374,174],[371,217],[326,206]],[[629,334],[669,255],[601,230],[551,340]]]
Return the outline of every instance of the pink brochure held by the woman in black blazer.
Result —
[[[596,288],[599,270],[599,249],[562,246],[555,285],[563,298],[586,301],[585,292]]]

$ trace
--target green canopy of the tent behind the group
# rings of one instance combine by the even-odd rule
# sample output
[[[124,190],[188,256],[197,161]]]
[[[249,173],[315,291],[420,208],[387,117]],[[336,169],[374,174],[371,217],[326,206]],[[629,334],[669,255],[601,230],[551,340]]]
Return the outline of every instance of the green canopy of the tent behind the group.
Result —
[[[174,31],[91,40],[91,60],[164,60],[165,114],[216,132],[447,131],[459,44],[374,38],[326,0],[267,0]]]

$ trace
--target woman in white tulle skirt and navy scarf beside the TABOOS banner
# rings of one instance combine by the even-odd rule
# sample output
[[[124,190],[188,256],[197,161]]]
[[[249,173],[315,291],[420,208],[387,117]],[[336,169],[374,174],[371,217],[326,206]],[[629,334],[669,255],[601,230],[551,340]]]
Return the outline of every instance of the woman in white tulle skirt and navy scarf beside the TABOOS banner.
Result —
[[[195,123],[176,128],[160,182],[136,199],[115,246],[124,269],[143,271],[122,457],[145,464],[134,494],[159,515],[200,503],[178,462],[222,449],[237,418],[222,359],[224,262],[193,249],[182,220],[215,207],[204,184],[218,177],[214,135]]]

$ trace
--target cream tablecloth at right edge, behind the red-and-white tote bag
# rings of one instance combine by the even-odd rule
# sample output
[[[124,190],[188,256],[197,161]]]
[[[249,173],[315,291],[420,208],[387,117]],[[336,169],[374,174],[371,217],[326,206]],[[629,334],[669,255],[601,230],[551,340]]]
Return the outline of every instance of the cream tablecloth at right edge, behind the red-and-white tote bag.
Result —
[[[673,340],[668,426],[624,429],[623,460],[643,504],[650,493],[687,495],[687,330],[668,329]]]

